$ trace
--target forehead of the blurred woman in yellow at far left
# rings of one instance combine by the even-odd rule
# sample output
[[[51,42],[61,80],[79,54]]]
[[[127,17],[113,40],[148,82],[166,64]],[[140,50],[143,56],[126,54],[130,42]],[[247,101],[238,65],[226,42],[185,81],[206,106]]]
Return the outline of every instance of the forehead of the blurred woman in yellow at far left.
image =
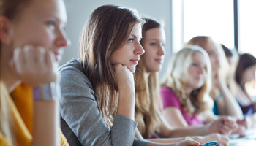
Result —
[[[34,15],[39,18],[54,16],[63,22],[67,21],[66,8],[62,0],[32,0],[21,15],[21,17]]]

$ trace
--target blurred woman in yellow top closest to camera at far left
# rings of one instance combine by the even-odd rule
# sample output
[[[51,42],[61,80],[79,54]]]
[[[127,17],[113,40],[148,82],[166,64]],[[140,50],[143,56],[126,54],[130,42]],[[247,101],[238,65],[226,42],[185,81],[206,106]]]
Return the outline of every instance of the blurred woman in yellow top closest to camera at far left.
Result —
[[[0,145],[60,145],[58,100],[39,88],[56,89],[58,56],[69,44],[64,1],[0,0],[0,9]],[[21,82],[26,91],[11,94]]]

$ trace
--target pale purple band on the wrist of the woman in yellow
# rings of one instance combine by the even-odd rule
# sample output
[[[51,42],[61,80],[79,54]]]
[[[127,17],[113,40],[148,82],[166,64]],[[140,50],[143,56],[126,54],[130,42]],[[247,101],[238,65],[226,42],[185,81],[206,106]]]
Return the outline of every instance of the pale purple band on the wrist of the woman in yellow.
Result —
[[[60,97],[60,87],[58,83],[50,82],[33,88],[35,101],[53,101]]]

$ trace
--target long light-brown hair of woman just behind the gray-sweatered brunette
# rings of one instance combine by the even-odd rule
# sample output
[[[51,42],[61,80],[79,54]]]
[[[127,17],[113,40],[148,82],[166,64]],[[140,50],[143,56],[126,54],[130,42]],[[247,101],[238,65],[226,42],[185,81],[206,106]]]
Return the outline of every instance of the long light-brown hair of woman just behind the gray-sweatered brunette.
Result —
[[[160,28],[161,24],[157,20],[146,19],[143,25],[143,37],[146,31],[151,28]],[[143,42],[143,39],[141,40]],[[142,43],[143,45],[143,43]],[[143,55],[134,74],[135,77],[135,121],[138,122],[138,130],[144,138],[151,138],[155,131],[159,131],[159,85],[157,72],[148,76],[146,72]]]

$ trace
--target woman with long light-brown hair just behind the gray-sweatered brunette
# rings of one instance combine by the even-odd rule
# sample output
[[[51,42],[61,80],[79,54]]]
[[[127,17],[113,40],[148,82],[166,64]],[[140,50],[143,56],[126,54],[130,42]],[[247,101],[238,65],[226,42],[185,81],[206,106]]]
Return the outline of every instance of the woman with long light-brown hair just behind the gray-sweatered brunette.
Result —
[[[228,138],[219,132],[218,123],[198,126],[195,128],[173,128],[161,113],[161,99],[159,98],[158,72],[162,69],[165,56],[165,31],[157,20],[146,19],[143,25],[143,39],[141,45],[145,53],[140,56],[135,71],[135,121],[138,122],[138,131],[135,136],[153,142],[179,142],[185,136],[193,137],[197,142],[206,143],[217,140],[218,143],[227,145]],[[175,119],[173,119],[175,120]],[[141,134],[141,135],[140,135]],[[196,135],[206,135],[197,137]],[[160,139],[153,139],[155,136]],[[170,138],[172,137],[172,138]],[[173,138],[182,137],[182,138]],[[161,139],[165,138],[165,139]]]

